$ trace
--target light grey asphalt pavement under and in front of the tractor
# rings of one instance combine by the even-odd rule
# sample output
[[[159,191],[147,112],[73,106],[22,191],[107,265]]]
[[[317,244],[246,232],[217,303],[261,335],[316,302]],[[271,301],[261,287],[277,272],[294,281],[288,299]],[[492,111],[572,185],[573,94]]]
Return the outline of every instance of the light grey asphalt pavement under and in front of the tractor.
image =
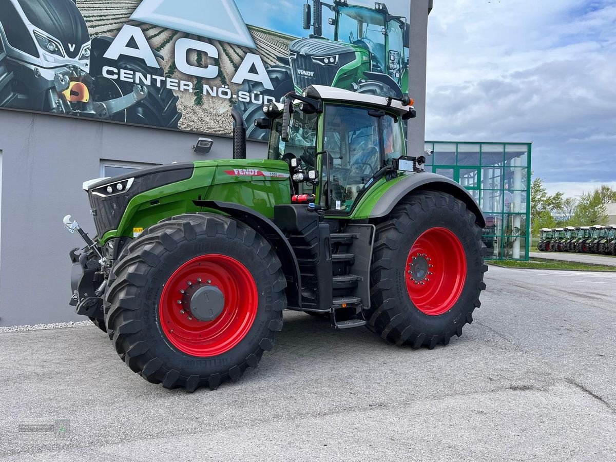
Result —
[[[94,326],[0,333],[0,461],[616,460],[616,274],[486,282],[447,347],[290,312],[256,370],[193,394],[132,373]]]

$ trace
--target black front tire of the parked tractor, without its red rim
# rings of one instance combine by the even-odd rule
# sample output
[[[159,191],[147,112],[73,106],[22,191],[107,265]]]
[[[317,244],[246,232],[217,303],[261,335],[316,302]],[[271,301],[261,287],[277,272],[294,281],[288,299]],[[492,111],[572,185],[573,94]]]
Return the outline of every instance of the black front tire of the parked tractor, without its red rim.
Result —
[[[195,256],[224,254],[237,259],[254,278],[257,312],[246,336],[222,354],[197,357],[172,346],[161,329],[158,304],[164,283]],[[242,222],[217,214],[185,214],[153,225],[132,241],[111,272],[105,294],[105,321],[121,359],[151,383],[165,388],[216,389],[257,367],[274,346],[286,308],[286,280],[274,249]]]

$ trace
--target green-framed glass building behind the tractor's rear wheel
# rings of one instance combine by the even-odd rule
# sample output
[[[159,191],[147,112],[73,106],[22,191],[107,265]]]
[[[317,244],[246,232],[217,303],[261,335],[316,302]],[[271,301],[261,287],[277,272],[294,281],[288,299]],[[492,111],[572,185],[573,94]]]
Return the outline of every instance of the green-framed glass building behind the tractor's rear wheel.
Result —
[[[459,182],[484,211],[486,258],[529,259],[531,146],[426,142],[426,171]]]

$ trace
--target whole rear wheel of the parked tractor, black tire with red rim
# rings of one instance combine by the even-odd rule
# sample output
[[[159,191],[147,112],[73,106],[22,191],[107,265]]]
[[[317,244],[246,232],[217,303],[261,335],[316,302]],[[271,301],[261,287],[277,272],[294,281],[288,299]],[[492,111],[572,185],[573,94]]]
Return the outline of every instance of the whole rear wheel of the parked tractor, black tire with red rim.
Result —
[[[402,200],[376,232],[368,328],[415,348],[460,336],[485,289],[476,216],[451,195],[424,191]]]

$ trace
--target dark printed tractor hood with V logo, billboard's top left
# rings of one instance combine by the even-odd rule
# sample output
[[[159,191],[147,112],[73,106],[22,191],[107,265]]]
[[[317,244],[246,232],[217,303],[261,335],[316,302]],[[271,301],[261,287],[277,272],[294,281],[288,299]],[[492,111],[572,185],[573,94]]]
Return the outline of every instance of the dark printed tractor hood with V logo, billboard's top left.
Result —
[[[90,40],[86,21],[73,0],[19,0],[28,20],[58,39],[67,56],[75,59]]]

